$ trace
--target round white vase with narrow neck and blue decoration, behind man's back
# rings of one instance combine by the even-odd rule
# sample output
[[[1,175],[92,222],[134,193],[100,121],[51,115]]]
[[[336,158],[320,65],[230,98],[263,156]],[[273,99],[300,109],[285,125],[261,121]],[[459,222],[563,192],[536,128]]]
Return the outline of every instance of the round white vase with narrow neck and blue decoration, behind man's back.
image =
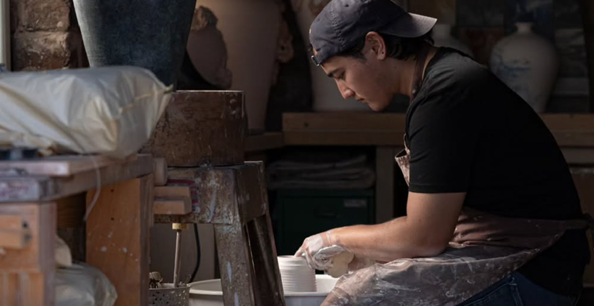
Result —
[[[495,45],[491,70],[537,113],[542,113],[557,79],[557,50],[549,40],[533,33],[532,23],[516,25],[516,33]]]

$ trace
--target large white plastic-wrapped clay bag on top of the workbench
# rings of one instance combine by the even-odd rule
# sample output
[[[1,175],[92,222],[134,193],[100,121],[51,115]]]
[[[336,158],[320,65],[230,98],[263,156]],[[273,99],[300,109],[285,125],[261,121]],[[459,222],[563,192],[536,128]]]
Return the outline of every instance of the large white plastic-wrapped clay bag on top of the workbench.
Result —
[[[132,66],[0,74],[0,145],[124,158],[146,142],[171,97]]]

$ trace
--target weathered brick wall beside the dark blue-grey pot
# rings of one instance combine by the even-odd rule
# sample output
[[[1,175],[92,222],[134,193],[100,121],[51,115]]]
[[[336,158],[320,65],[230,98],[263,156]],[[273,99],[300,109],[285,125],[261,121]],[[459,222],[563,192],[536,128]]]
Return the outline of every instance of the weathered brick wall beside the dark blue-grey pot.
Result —
[[[10,0],[12,70],[88,66],[72,0]]]

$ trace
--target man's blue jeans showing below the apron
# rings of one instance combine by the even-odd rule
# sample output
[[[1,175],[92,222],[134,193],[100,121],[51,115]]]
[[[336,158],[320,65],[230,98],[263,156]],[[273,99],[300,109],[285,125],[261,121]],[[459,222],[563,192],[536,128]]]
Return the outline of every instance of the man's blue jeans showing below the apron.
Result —
[[[577,297],[555,294],[514,272],[460,306],[573,306],[576,302]]]

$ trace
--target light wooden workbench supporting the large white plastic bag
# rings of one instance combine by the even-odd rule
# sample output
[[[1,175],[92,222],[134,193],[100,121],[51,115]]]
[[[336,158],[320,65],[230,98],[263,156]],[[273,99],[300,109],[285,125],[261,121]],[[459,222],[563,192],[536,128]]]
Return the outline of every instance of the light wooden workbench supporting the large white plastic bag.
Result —
[[[97,171],[103,187],[87,220],[87,262],[113,283],[116,305],[147,304],[153,160],[93,159],[0,162],[0,221],[10,221],[0,225],[0,305],[55,304],[56,202],[95,189]],[[85,205],[62,203],[67,212]]]

